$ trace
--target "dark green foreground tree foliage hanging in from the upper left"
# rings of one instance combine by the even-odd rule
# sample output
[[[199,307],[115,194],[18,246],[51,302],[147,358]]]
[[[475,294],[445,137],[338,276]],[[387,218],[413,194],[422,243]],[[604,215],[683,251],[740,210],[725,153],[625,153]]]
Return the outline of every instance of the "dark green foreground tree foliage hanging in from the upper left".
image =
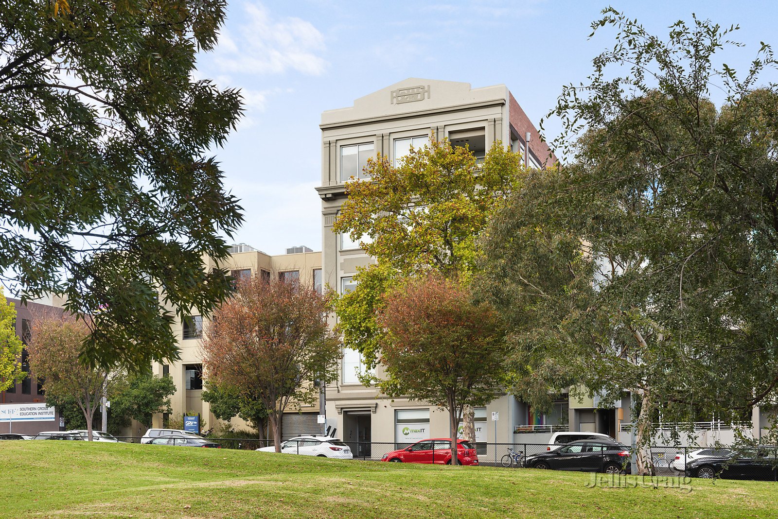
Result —
[[[93,316],[92,364],[176,359],[168,308],[208,315],[230,293],[202,256],[226,258],[242,216],[206,155],[240,94],[192,78],[224,16],[224,0],[0,3],[0,266],[23,300]]]

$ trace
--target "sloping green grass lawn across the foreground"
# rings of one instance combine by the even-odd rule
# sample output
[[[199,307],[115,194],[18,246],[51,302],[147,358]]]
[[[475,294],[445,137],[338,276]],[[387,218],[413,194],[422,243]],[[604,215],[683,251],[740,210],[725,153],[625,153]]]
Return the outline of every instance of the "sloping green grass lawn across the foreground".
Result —
[[[588,488],[580,472],[138,444],[2,441],[0,474],[0,517],[778,517],[775,482]]]

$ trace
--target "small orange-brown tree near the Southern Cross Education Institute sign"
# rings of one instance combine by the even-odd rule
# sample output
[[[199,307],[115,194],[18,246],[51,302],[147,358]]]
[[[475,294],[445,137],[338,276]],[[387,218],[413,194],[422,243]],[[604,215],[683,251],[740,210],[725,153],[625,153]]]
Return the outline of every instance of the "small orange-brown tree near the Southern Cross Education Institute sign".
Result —
[[[110,385],[108,371],[90,367],[79,358],[79,350],[89,327],[82,320],[37,319],[27,345],[30,371],[44,379],[47,395],[73,399],[86,421],[87,437],[92,441],[92,423],[103,391]]]

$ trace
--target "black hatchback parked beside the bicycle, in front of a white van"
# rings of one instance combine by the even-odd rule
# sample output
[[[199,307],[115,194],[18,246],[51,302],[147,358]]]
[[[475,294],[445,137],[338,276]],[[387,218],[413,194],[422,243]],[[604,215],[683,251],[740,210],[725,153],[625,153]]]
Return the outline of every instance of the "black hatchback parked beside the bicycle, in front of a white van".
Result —
[[[617,441],[573,441],[553,451],[527,456],[527,468],[552,468],[555,470],[580,470],[629,474],[629,447]]]

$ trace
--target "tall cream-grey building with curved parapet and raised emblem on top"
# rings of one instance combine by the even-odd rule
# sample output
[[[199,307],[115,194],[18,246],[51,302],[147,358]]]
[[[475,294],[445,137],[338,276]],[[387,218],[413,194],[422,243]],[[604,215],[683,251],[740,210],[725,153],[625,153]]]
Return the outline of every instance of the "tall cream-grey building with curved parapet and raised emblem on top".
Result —
[[[353,106],[325,111],[320,127],[321,186],[316,190],[322,209],[322,269],[324,284],[340,293],[353,289],[358,266],[373,261],[359,249],[359,237],[332,232],[345,201],[345,182],[365,176],[368,157],[380,154],[397,161],[411,145],[418,148],[434,136],[468,145],[478,158],[501,141],[536,168],[555,161],[505,85],[473,89],[468,83],[408,78],[356,99]],[[380,398],[376,388],[359,383],[357,374],[363,370],[359,354],[345,349],[338,381],[326,390],[327,424],[337,427],[344,441],[408,444],[448,436],[447,412],[423,402]],[[476,409],[477,441],[513,443],[517,427],[566,423],[568,413],[566,395],[560,395],[553,416],[535,416],[524,402],[503,395]],[[355,455],[370,455],[360,449],[369,447],[360,446]]]

